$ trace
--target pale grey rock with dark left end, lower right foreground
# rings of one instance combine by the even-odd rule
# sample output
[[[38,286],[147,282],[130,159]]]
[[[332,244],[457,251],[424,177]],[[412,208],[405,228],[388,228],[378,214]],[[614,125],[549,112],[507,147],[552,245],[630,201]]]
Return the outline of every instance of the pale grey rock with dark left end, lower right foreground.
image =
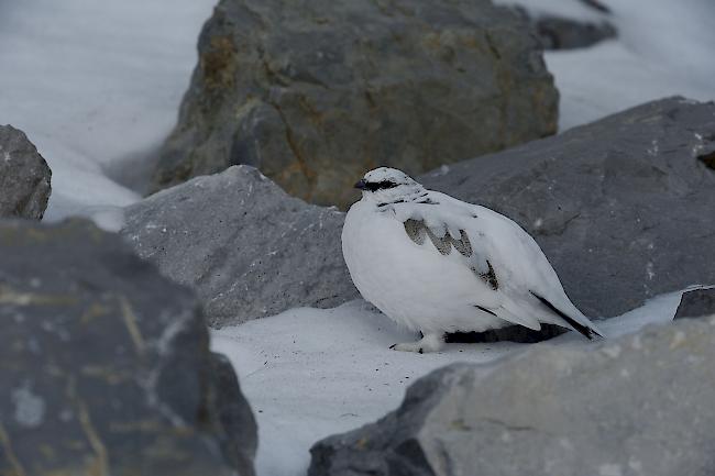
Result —
[[[376,423],[318,442],[308,474],[708,476],[714,359],[710,318],[448,366]]]

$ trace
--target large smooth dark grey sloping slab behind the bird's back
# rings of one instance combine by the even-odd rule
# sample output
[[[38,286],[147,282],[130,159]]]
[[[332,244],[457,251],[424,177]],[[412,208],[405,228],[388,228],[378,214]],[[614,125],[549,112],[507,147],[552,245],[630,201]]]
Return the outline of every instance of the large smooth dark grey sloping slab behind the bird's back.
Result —
[[[713,148],[715,104],[669,98],[420,180],[514,219],[584,313],[617,316],[715,283]]]

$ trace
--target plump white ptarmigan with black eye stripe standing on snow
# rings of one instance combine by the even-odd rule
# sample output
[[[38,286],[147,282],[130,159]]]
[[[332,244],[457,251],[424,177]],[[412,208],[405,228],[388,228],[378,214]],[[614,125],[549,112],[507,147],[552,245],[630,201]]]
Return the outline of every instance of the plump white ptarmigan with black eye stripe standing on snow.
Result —
[[[452,332],[557,324],[593,340],[604,333],[569,299],[537,242],[486,207],[428,190],[380,167],[356,184],[342,252],[362,297],[422,337],[394,344],[437,352]]]

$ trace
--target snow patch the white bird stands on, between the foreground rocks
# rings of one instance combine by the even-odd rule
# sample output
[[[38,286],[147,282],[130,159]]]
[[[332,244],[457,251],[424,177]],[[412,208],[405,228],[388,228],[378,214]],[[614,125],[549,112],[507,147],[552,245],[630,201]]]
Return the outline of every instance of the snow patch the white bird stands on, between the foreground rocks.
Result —
[[[669,322],[681,294],[657,297],[598,325],[616,337]],[[362,300],[336,309],[293,309],[212,331],[212,350],[231,359],[257,418],[257,474],[302,476],[314,443],[382,418],[417,378],[455,362],[490,363],[530,346],[448,344],[430,354],[388,348],[418,337]],[[575,333],[549,343],[594,345]]]

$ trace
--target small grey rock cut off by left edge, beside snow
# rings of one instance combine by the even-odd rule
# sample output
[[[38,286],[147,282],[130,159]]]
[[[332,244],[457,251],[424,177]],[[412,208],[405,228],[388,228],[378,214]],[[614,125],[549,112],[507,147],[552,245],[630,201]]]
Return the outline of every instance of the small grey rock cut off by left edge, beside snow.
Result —
[[[50,199],[52,171],[28,136],[0,125],[0,218],[41,220]]]

